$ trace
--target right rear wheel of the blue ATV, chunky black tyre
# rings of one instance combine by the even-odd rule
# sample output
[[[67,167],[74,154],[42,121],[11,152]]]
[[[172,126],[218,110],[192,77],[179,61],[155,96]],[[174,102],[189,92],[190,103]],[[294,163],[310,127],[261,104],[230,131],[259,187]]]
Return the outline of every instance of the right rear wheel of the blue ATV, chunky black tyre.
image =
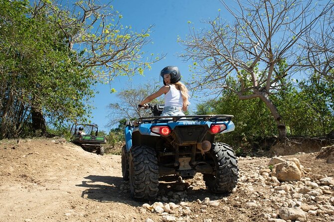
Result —
[[[214,193],[229,193],[238,182],[238,161],[233,149],[225,143],[213,143],[210,150],[214,174],[203,174],[205,185]]]

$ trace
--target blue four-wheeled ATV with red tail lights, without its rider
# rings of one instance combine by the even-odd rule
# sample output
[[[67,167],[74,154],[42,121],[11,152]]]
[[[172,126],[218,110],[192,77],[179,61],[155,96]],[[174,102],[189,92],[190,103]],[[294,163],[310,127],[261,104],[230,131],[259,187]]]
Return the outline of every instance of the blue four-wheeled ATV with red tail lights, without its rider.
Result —
[[[217,133],[234,130],[233,115],[160,116],[163,105],[148,106],[152,117],[127,121],[122,174],[135,200],[154,200],[159,177],[203,174],[214,193],[231,192],[238,180],[233,149],[213,142]]]

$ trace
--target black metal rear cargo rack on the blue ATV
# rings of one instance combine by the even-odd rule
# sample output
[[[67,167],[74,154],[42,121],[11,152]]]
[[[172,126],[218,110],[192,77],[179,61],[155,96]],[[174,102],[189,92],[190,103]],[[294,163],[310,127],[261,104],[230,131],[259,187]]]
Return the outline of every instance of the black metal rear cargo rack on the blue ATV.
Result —
[[[211,121],[222,122],[230,121],[233,115],[175,115],[175,116],[151,116],[142,117],[133,121],[127,121],[126,125],[138,126],[142,123],[167,123],[176,121]]]

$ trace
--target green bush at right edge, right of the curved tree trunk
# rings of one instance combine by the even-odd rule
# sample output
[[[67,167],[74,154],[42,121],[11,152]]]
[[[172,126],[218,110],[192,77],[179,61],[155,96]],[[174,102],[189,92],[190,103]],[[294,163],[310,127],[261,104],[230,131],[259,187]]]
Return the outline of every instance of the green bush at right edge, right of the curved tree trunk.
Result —
[[[334,82],[314,75],[277,98],[292,135],[326,135],[334,128]]]

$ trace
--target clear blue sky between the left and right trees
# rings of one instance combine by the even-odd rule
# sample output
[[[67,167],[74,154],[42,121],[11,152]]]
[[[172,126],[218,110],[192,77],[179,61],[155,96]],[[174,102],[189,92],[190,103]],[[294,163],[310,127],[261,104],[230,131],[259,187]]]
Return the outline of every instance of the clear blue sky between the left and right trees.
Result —
[[[109,1],[101,1],[108,3]],[[153,64],[151,70],[145,70],[145,76],[136,75],[129,80],[127,77],[120,77],[114,80],[111,85],[99,85],[96,89],[99,94],[93,99],[93,123],[99,125],[99,128],[109,132],[105,127],[109,119],[107,106],[110,103],[116,103],[117,97],[110,93],[110,88],[115,88],[118,92],[126,89],[129,81],[133,86],[135,84],[144,84],[149,81],[159,81],[160,71],[168,66],[178,66],[183,80],[188,78],[190,73],[188,65],[177,57],[177,53],[182,52],[182,46],[176,42],[177,36],[182,39],[188,34],[191,21],[196,29],[205,26],[203,20],[214,18],[218,15],[218,9],[223,11],[223,5],[219,0],[114,0],[111,2],[115,10],[118,10],[123,18],[122,24],[131,25],[135,31],[148,28],[155,25],[152,29],[152,44],[145,47],[147,56],[151,53],[166,53],[166,58]],[[225,15],[220,12],[222,17]],[[162,83],[163,84],[163,83]],[[195,109],[196,102],[190,98],[190,110]]]

